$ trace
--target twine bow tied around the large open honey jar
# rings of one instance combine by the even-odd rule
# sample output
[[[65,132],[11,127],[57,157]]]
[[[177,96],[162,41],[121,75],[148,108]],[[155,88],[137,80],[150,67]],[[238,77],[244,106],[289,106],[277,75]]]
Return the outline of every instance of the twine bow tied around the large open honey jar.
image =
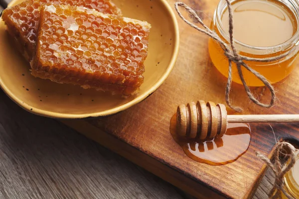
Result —
[[[186,5],[185,3],[182,2],[176,2],[174,7],[179,15],[180,18],[182,18],[188,25],[190,25],[191,27],[195,28],[196,30],[205,33],[206,35],[208,35],[209,37],[211,37],[212,39],[214,39],[215,41],[217,41],[220,46],[222,47],[222,49],[224,50],[224,55],[228,58],[228,63],[229,63],[229,68],[228,68],[228,80],[227,80],[227,84],[226,84],[226,89],[225,89],[225,100],[226,103],[229,107],[231,107],[232,109],[234,109],[235,111],[241,112],[242,108],[238,107],[238,106],[234,106],[231,103],[231,100],[229,98],[230,95],[230,91],[231,91],[231,84],[232,84],[232,62],[234,62],[237,66],[237,70],[238,70],[238,74],[240,77],[240,80],[242,81],[242,84],[244,86],[244,89],[247,93],[247,96],[249,97],[250,100],[252,100],[255,104],[262,106],[262,107],[271,107],[274,105],[274,102],[276,100],[276,95],[275,95],[275,90],[274,87],[271,85],[271,83],[260,73],[258,73],[257,71],[255,71],[254,69],[252,69],[251,67],[249,67],[244,61],[257,61],[257,62],[272,62],[272,61],[278,61],[282,58],[285,58],[286,56],[288,56],[293,50],[290,50],[289,52],[283,53],[279,56],[276,57],[272,57],[272,58],[250,58],[250,57],[245,57],[242,56],[238,53],[238,51],[236,50],[234,41],[233,41],[233,14],[232,14],[232,7],[231,7],[231,3],[229,0],[226,0],[227,2],[227,7],[228,7],[228,12],[229,12],[229,38],[230,38],[230,45],[228,45],[225,41],[223,41],[216,32],[212,31],[210,28],[208,28],[202,21],[202,19],[200,18],[200,16],[198,16],[195,12],[194,9],[192,9],[191,7],[189,7],[188,5]],[[186,9],[186,11],[193,17],[193,19],[200,23],[204,29],[199,28],[198,26],[196,26],[195,24],[191,23],[190,21],[188,21],[187,19],[185,19],[185,17],[182,15],[182,13],[179,11],[178,7],[183,7]],[[244,80],[244,76],[242,73],[241,68],[244,67],[246,70],[250,71],[252,74],[254,74],[259,80],[261,80],[263,82],[263,84],[270,90],[271,92],[271,101],[269,104],[265,104],[260,102],[258,99],[256,99],[254,97],[254,95],[252,94],[252,92],[250,91],[250,88],[248,87],[248,85],[246,84],[245,80]]]

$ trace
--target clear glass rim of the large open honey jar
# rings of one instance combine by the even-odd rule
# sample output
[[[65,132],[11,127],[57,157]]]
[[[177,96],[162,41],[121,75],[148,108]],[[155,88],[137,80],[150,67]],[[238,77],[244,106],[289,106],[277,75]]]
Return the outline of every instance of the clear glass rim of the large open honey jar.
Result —
[[[234,1],[237,1],[237,0],[230,0],[230,2],[234,2]],[[274,45],[274,46],[266,46],[266,47],[263,47],[263,46],[253,46],[253,45],[249,45],[249,44],[245,44],[239,40],[236,40],[235,38],[233,39],[235,44],[238,44],[238,45],[241,45],[242,47],[245,47],[245,48],[250,48],[250,49],[254,49],[254,50],[262,50],[262,51],[273,51],[273,49],[279,49],[279,50],[282,50],[282,49],[286,49],[288,47],[290,47],[292,44],[297,44],[298,40],[299,40],[299,1],[298,0],[276,0],[276,1],[280,1],[282,2],[284,5],[286,5],[289,9],[290,9],[290,5],[289,4],[286,4],[286,1],[289,1],[290,4],[295,8],[295,11],[294,12],[292,9],[291,11],[294,13],[294,15],[296,16],[296,21],[297,21],[297,31],[296,33],[290,38],[288,39],[287,41],[285,41],[284,43],[281,43],[281,44],[278,44],[278,45]],[[224,7],[221,7],[221,3],[224,3],[225,6]],[[221,17],[222,17],[222,14],[223,14],[223,10],[225,10],[227,8],[227,2],[226,0],[220,0],[219,3],[218,3],[218,6],[216,8],[216,12],[215,12],[215,15],[214,15],[214,18],[216,17],[217,20],[214,19],[214,21],[216,22],[217,26],[218,26],[218,30],[220,32],[220,34],[224,37],[224,39],[226,41],[229,42],[229,35],[228,33],[226,33],[223,29],[223,24],[222,24],[222,21],[221,21]]]

